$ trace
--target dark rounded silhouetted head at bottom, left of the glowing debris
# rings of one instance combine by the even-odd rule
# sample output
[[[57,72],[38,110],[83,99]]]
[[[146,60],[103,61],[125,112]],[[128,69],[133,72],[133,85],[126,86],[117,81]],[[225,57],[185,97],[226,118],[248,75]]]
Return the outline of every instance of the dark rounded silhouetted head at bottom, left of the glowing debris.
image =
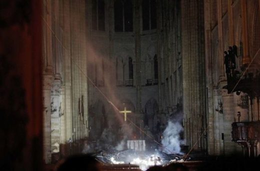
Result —
[[[57,171],[99,171],[99,162],[91,155],[78,154],[65,159],[65,161],[58,167]]]

